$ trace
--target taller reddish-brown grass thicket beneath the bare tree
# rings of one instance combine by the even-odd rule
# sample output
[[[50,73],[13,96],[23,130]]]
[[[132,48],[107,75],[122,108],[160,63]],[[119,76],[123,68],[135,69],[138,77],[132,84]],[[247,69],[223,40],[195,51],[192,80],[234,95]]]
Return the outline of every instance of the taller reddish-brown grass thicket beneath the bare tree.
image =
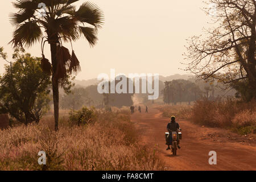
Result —
[[[256,129],[255,113],[256,101],[245,103],[230,99],[204,100],[197,101],[193,106],[191,120],[200,125],[228,128],[240,134],[248,134]]]

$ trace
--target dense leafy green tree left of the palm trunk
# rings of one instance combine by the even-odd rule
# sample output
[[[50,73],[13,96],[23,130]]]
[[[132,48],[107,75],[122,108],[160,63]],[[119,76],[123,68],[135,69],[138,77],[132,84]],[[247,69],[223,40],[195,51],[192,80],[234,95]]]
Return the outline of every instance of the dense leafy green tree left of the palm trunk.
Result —
[[[0,58],[7,61],[2,47]],[[51,78],[42,71],[40,58],[22,48],[14,50],[13,60],[0,76],[0,114],[9,113],[25,125],[38,123],[49,110]]]

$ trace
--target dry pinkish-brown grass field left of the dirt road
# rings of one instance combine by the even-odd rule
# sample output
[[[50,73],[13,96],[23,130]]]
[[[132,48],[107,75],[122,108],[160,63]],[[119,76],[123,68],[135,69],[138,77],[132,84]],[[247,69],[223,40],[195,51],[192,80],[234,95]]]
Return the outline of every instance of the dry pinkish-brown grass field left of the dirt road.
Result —
[[[93,125],[68,126],[60,117],[39,125],[0,131],[0,170],[162,170],[154,151],[141,146],[129,110],[101,112]],[[38,152],[47,154],[47,165],[38,164]]]

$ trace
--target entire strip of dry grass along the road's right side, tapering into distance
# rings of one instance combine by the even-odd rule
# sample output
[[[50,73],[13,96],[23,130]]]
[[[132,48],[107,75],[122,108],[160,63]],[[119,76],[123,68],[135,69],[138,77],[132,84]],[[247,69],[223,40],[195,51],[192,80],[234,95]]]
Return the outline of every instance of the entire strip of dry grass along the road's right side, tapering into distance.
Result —
[[[175,115],[177,119],[188,119],[199,125],[221,127],[235,133],[256,134],[256,101],[237,99],[196,101],[193,105],[162,105],[157,107],[164,117]]]

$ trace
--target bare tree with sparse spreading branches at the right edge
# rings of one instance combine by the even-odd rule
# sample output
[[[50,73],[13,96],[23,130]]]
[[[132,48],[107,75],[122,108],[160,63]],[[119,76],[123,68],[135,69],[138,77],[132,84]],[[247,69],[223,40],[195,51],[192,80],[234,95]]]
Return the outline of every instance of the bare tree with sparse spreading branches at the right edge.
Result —
[[[256,98],[256,2],[255,0],[209,0],[205,9],[216,27],[206,38],[188,40],[187,71],[207,81],[234,85],[246,82],[250,98]]]

